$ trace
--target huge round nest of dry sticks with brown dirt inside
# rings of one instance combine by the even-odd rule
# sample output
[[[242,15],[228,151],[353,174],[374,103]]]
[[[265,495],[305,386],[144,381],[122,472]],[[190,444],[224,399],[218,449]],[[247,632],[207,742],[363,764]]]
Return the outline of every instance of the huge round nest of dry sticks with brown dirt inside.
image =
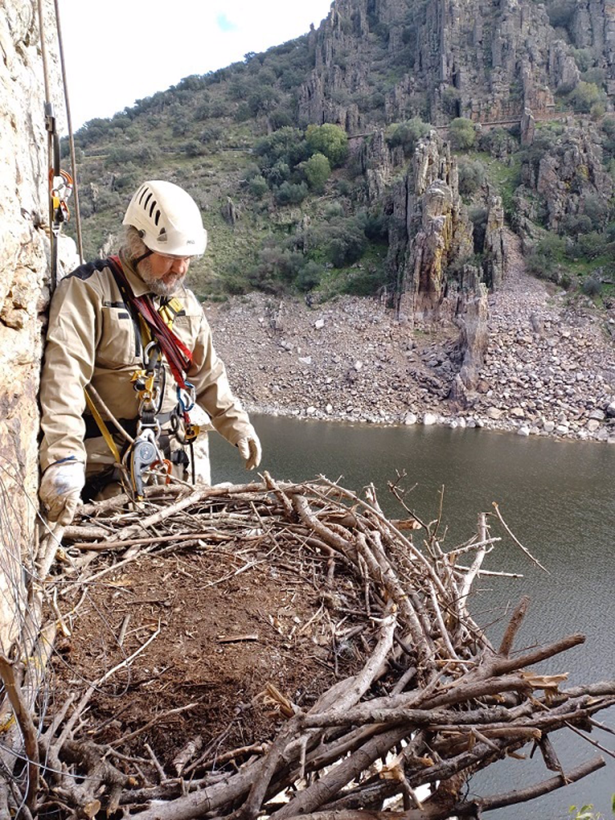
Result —
[[[0,814],[477,817],[603,766],[564,772],[549,736],[590,731],[615,681],[532,670],[583,636],[512,654],[526,599],[497,648],[468,611],[490,524],[514,540],[498,508],[448,552],[404,516],[266,473],[82,508],[43,540],[2,658]],[[463,796],[528,744],[549,777]]]

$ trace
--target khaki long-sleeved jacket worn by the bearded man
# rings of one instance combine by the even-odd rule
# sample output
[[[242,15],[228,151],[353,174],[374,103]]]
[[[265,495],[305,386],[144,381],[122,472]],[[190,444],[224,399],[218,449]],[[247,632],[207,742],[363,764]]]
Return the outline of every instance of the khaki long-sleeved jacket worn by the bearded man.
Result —
[[[125,260],[122,266],[134,295],[149,293],[148,286]],[[252,430],[248,415],[230,390],[225,366],[213,348],[212,333],[197,298],[183,286],[175,297],[180,299],[184,315],[175,317],[173,332],[193,353],[186,380],[194,385],[197,402],[211,418],[212,426],[230,444],[236,444]],[[159,307],[160,297],[153,296],[153,303]],[[177,404],[176,385],[164,357],[162,363],[166,385],[160,412],[169,412]],[[87,463],[83,419],[87,385],[93,385],[116,418],[137,417],[139,399],[130,380],[143,366],[139,331],[105,260],[89,262],[66,276],[52,298],[41,379],[43,470],[71,455]],[[101,415],[105,417],[103,412]],[[96,451],[106,449],[101,438],[90,442],[96,442]],[[94,455],[93,460],[112,462],[108,449],[105,456],[103,452]]]

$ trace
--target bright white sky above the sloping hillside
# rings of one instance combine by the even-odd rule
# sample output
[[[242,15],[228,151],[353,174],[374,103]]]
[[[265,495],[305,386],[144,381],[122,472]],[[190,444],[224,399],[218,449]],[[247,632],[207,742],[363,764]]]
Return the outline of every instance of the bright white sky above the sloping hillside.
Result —
[[[331,0],[59,0],[73,128],[317,28]]]

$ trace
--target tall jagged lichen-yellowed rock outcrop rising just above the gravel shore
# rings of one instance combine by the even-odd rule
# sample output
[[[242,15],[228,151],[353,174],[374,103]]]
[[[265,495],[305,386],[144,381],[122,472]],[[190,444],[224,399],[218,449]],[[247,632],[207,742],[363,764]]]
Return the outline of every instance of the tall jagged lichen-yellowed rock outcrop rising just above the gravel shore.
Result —
[[[444,298],[447,267],[473,248],[457,161],[435,131],[417,145],[391,207],[388,265],[399,307],[414,315],[433,311]]]

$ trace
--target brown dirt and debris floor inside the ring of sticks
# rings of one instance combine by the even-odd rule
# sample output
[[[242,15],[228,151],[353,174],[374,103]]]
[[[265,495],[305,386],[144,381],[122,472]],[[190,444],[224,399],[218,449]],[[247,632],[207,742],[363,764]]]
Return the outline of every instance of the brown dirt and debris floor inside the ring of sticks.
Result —
[[[372,644],[369,622],[336,609],[340,600],[353,608],[352,582],[339,577],[335,594],[323,593],[326,568],[315,558],[295,566],[271,553],[203,547],[146,555],[110,572],[89,585],[71,636],[57,643],[55,703],[70,692],[78,700],[90,681],[159,629],[130,671],[121,668],[98,688],[87,713],[89,737],[116,742],[160,715],[116,748],[147,757],[148,743],[173,774],[175,754],[199,735],[212,757],[268,740],[280,716],[259,697],[267,683],[294,704],[311,705],[337,679],[356,672]],[[195,705],[162,715],[186,704]]]

